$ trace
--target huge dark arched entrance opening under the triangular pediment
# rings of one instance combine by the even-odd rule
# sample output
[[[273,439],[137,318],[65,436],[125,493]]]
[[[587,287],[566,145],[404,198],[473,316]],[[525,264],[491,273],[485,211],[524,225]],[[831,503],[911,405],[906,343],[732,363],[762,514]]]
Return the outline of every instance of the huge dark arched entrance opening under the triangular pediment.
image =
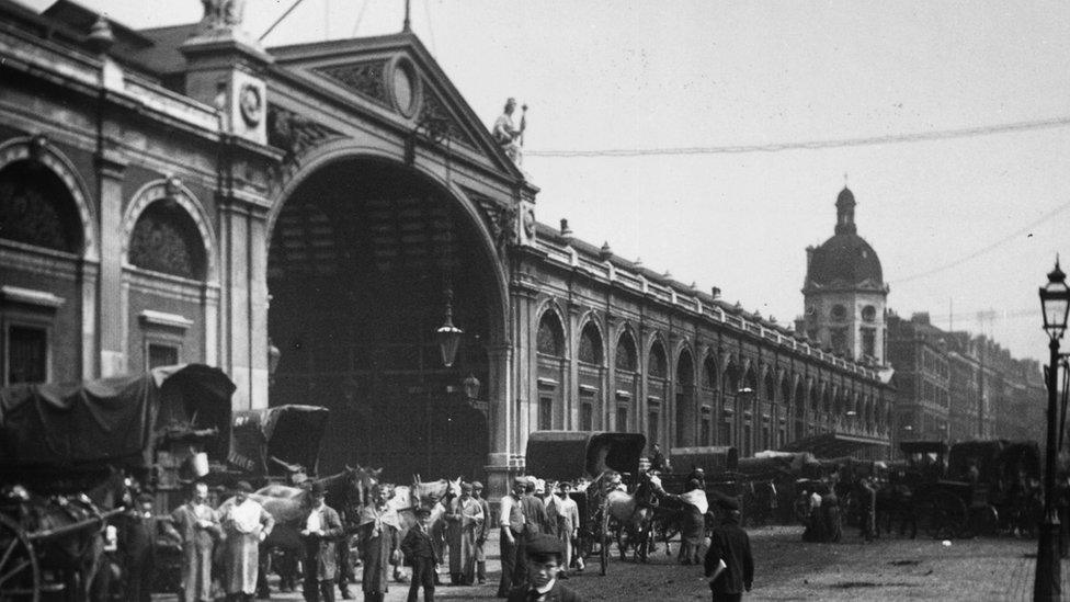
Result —
[[[360,463],[400,482],[483,478],[478,398],[502,302],[477,227],[430,179],[383,159],[334,160],[285,200],[268,260],[269,337],[281,351],[270,404],[330,408],[321,473]],[[464,330],[448,367],[434,339],[446,288]],[[482,393],[471,395],[469,375]]]

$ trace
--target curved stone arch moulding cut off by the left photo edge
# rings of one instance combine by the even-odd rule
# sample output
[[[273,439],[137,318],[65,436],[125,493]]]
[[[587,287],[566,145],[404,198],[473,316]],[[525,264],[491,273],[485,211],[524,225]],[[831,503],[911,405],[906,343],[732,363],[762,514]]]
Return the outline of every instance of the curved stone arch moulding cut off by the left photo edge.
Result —
[[[89,201],[93,196],[75,164],[44,136],[22,136],[0,144],[0,169],[23,160],[33,160],[45,166],[64,182],[81,220],[81,257],[100,261],[95,212]]]

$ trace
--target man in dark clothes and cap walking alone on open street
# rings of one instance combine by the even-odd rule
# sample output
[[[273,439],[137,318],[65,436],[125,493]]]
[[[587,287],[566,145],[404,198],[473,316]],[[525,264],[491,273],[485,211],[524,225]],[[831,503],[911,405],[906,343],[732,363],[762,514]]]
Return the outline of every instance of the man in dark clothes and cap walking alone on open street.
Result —
[[[739,526],[739,503],[731,498],[721,498],[717,504],[725,518],[709,538],[706,578],[714,602],[737,601],[743,598],[743,591],[751,591],[754,581],[751,541]]]

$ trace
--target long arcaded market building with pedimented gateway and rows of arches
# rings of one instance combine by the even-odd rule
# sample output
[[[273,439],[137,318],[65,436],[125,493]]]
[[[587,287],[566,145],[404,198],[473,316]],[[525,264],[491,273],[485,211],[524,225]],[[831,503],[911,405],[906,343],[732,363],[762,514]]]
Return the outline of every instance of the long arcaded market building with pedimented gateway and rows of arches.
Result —
[[[218,365],[236,409],[330,408],[323,470],[494,490],[536,429],[887,447],[879,362],[539,223],[410,32],[265,49],[204,4],[0,1],[4,385]]]

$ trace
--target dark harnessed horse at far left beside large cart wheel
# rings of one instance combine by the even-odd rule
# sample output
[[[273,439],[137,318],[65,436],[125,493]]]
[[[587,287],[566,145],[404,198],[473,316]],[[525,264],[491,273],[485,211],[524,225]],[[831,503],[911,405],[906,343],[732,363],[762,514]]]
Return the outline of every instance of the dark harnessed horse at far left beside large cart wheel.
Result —
[[[60,487],[54,490],[70,485],[62,480],[53,485],[56,482]],[[90,600],[104,555],[104,529],[107,526],[104,513],[113,514],[133,507],[130,487],[132,481],[124,473],[107,467],[96,485],[82,492],[42,496],[22,485],[11,485],[0,493],[0,503],[4,507],[3,514],[14,519],[23,532],[39,537],[32,552],[43,569],[61,577],[67,600]],[[10,555],[14,543],[9,544]],[[24,568],[30,566],[29,558],[26,560]],[[23,584],[22,579],[32,578],[29,573],[20,575],[22,570],[8,572],[3,577],[4,587]]]

